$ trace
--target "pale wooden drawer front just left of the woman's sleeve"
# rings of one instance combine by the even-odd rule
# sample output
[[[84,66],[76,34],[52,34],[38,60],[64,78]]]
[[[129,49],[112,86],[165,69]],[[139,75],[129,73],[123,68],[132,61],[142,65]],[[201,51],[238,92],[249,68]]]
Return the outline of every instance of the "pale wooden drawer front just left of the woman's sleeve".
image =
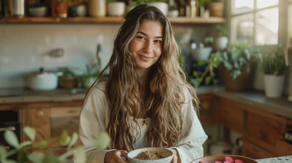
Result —
[[[55,107],[51,108],[51,118],[79,116],[82,107]]]

